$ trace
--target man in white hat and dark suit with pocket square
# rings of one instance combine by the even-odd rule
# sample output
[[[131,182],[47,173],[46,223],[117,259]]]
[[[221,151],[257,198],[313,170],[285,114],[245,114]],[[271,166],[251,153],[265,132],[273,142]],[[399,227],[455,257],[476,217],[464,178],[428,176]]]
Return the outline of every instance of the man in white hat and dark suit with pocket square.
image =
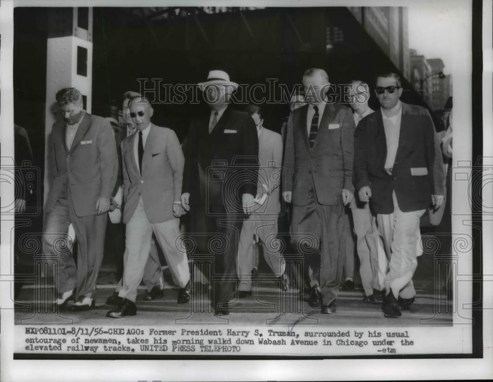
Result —
[[[192,215],[192,234],[208,232],[210,244],[220,242],[209,246],[214,257],[212,309],[227,315],[237,280],[238,239],[257,192],[258,137],[253,119],[229,107],[238,84],[226,72],[213,70],[198,86],[210,111],[190,124],[181,204]]]

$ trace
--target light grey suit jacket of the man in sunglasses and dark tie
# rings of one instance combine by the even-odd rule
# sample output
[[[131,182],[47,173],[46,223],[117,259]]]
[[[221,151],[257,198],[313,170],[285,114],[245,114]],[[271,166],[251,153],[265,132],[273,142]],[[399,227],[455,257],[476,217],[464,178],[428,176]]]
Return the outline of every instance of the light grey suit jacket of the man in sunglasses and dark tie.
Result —
[[[134,133],[121,143],[123,170],[123,223],[128,223],[142,196],[151,223],[176,219],[173,202],[180,200],[183,152],[173,130],[151,123],[142,157],[142,174],[135,161]]]

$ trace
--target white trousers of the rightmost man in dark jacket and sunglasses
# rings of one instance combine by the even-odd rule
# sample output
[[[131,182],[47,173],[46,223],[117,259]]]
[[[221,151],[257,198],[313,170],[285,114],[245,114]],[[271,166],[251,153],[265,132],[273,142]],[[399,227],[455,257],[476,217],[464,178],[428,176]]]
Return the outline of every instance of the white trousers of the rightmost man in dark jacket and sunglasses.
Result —
[[[418,266],[420,218],[426,210],[402,212],[395,192],[392,200],[394,212],[377,215],[378,231],[390,254],[385,293],[392,291],[395,298],[410,299],[416,295],[412,278]]]

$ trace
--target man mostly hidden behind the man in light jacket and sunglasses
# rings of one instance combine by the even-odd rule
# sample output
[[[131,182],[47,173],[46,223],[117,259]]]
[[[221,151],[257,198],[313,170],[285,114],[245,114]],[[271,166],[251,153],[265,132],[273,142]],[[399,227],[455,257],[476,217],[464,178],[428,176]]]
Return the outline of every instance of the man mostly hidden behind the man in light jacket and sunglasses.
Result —
[[[111,204],[111,209],[120,208],[123,209],[122,205],[118,205],[115,202],[115,198],[117,194],[121,194],[121,187],[123,185],[123,172],[122,172],[122,162],[121,162],[121,151],[120,144],[125,140],[125,138],[130,137],[137,130],[134,122],[130,116],[129,102],[132,98],[141,96],[141,94],[135,91],[126,91],[123,93],[122,100],[122,116],[124,126],[118,130],[115,130],[115,140],[117,144],[118,150],[118,178],[116,182],[115,189],[113,191],[113,200]],[[123,204],[120,202],[120,204]],[[123,299],[118,297],[118,292],[123,286],[123,254],[125,253],[125,239],[124,234],[122,236],[122,230],[124,232],[125,226],[119,223],[111,223],[108,222],[108,231],[114,243],[114,248],[116,250],[117,256],[121,256],[117,261],[117,273],[119,274],[120,280],[115,288],[115,291],[111,296],[109,296],[106,300],[106,304],[108,305],[119,305],[122,303]],[[151,249],[149,252],[149,257],[147,259],[147,263],[145,264],[144,274],[142,276],[142,281],[146,288],[146,295],[144,299],[146,301],[155,300],[163,297],[164,295],[164,279],[163,279],[163,270],[161,267],[161,262],[159,260],[159,255],[157,252],[156,242],[154,240],[154,236],[151,240]]]

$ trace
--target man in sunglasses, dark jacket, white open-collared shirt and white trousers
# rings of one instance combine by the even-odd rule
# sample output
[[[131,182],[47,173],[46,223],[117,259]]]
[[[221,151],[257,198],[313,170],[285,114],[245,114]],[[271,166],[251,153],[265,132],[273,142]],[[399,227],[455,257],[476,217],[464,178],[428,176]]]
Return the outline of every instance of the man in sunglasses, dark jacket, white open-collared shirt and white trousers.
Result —
[[[378,75],[376,94],[380,110],[364,118],[355,133],[354,183],[361,201],[371,198],[390,258],[382,310],[386,317],[400,317],[416,295],[420,218],[430,203],[442,204],[444,174],[431,116],[399,100],[400,77]]]

